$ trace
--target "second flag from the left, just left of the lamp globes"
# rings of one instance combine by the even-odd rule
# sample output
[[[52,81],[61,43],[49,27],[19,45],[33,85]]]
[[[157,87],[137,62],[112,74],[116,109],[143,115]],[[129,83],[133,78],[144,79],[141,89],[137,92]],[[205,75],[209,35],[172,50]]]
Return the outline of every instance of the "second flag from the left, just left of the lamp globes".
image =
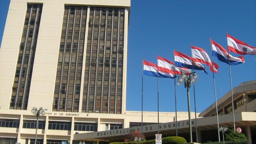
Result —
[[[190,69],[175,67],[172,61],[167,60],[166,58],[162,58],[160,56],[157,56],[157,66],[158,73],[160,73],[161,75],[165,75],[166,77],[169,76],[169,78],[175,78],[175,74],[180,75],[181,71],[185,72],[186,75],[189,75],[191,73]]]

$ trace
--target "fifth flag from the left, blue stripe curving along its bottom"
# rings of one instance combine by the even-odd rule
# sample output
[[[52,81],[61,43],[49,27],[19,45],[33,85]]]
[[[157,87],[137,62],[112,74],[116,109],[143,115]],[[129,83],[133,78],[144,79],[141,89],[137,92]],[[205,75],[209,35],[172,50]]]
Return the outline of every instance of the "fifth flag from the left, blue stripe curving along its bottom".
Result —
[[[244,63],[244,57],[233,57],[232,55],[228,54],[226,49],[224,49],[221,45],[219,45],[213,40],[211,40],[211,44],[212,44],[212,56],[217,57],[218,60],[230,65],[237,65],[240,63]]]

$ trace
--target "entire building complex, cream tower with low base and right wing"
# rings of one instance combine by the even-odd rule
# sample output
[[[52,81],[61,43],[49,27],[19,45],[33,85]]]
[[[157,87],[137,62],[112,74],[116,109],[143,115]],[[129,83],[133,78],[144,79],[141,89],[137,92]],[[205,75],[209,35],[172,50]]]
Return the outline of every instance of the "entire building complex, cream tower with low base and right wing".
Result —
[[[141,112],[125,109],[130,6],[130,0],[11,0],[0,47],[0,144],[35,143],[33,107],[47,109],[37,144],[108,143],[141,129]],[[256,81],[233,93],[236,126],[253,143]],[[197,114],[199,141],[217,130],[217,114],[232,127],[230,104],[228,92],[218,112],[212,104]],[[157,132],[156,123],[157,112],[143,112],[146,136]],[[176,127],[185,138],[189,131],[187,112],[177,118],[160,112],[160,123],[166,136]],[[194,119],[192,126],[195,133]]]

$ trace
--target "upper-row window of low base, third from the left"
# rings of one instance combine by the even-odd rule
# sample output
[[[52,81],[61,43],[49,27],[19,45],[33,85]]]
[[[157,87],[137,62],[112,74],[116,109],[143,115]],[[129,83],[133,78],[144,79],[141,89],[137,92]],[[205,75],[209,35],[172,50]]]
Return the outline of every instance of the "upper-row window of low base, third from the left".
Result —
[[[66,121],[49,121],[49,130],[71,130],[71,122]]]

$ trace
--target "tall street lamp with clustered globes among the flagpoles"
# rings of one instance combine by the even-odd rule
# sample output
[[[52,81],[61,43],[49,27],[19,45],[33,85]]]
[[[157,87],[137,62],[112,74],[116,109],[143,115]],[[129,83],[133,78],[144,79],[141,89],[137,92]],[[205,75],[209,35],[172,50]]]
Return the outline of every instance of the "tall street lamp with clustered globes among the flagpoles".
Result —
[[[192,143],[192,126],[191,126],[191,113],[190,113],[190,95],[189,95],[189,88],[191,84],[195,83],[198,79],[198,75],[196,72],[190,73],[188,76],[186,76],[185,72],[182,72],[179,78],[177,79],[177,85],[181,85],[183,82],[185,84],[185,88],[187,88],[187,97],[188,97],[188,110],[189,110],[189,138],[190,143]]]

